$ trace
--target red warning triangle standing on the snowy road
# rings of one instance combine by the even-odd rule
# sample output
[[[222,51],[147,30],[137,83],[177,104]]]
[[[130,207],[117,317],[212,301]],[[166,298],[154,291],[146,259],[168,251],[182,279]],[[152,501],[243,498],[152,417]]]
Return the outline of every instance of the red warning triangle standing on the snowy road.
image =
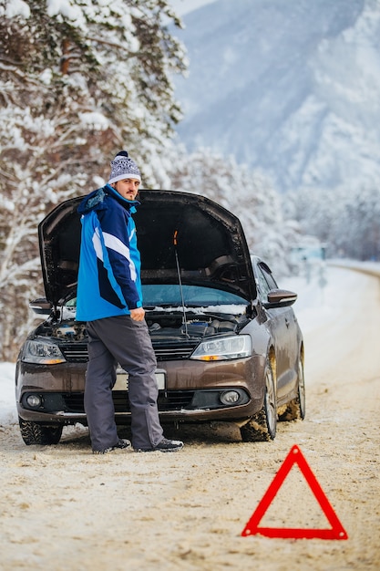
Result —
[[[276,493],[282,486],[288,473],[291,471],[293,464],[298,464],[306,482],[309,484],[318,504],[320,504],[324,515],[331,524],[331,529],[298,529],[289,527],[259,527],[262,521],[262,516],[267,511],[272,503]],[[344,531],[343,525],[340,523],[334,509],[328,501],[323,489],[317,482],[309,464],[306,462],[303,453],[294,445],[285,460],[282,462],[280,470],[274,476],[273,482],[269,486],[266,493],[262,497],[262,501],[257,506],[256,510],[251,516],[250,521],[244,527],[241,535],[265,535],[266,537],[285,537],[292,539],[347,539],[348,535]]]

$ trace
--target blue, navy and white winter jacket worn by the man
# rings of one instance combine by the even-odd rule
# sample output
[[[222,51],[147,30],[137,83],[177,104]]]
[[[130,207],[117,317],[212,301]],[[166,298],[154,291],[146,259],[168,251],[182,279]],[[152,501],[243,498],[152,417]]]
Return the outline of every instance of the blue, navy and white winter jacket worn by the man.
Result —
[[[109,184],[80,202],[78,321],[128,315],[142,306],[140,255],[131,216],[138,204]]]

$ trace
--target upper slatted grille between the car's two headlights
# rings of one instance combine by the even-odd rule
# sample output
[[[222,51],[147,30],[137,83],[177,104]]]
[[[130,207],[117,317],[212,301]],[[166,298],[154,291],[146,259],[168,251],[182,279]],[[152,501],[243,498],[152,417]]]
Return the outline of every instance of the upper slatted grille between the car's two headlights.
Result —
[[[173,361],[190,358],[191,353],[199,344],[198,340],[185,341],[182,344],[159,344],[153,343],[154,352],[158,361]],[[60,349],[64,357],[71,363],[84,363],[88,360],[87,345],[78,343],[65,343]]]

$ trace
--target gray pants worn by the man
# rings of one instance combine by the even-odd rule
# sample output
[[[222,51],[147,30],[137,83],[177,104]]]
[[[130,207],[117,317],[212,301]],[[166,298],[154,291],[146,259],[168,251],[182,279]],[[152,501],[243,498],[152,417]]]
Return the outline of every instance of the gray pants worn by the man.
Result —
[[[85,410],[92,449],[104,450],[118,441],[112,400],[118,363],[129,376],[132,445],[155,446],[162,440],[157,409],[157,363],[145,320],[105,317],[87,322],[87,333]]]

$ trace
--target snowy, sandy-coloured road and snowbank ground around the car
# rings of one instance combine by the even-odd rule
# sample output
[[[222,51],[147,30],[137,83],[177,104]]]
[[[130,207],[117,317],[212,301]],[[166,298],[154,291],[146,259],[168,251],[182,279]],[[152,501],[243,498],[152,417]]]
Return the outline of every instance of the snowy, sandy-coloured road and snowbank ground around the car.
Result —
[[[14,365],[0,365],[0,569],[380,568],[380,280],[330,267],[324,279],[280,285],[299,291],[307,416],[280,423],[272,442],[201,426],[172,432],[186,442],[177,454],[93,456],[84,429],[64,432],[57,446],[26,447],[15,424]],[[348,540],[241,537],[293,444]],[[262,525],[329,527],[296,467]]]

